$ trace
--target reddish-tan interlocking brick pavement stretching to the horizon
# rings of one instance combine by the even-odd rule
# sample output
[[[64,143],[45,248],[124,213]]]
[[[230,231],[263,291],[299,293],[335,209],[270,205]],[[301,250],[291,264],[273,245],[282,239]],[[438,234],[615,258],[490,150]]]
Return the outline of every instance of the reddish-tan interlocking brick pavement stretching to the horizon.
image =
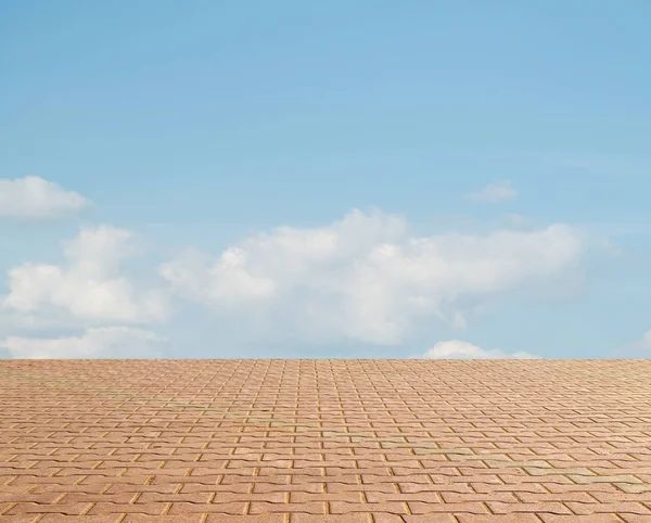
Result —
[[[651,360],[1,360],[0,413],[2,522],[651,522]]]

